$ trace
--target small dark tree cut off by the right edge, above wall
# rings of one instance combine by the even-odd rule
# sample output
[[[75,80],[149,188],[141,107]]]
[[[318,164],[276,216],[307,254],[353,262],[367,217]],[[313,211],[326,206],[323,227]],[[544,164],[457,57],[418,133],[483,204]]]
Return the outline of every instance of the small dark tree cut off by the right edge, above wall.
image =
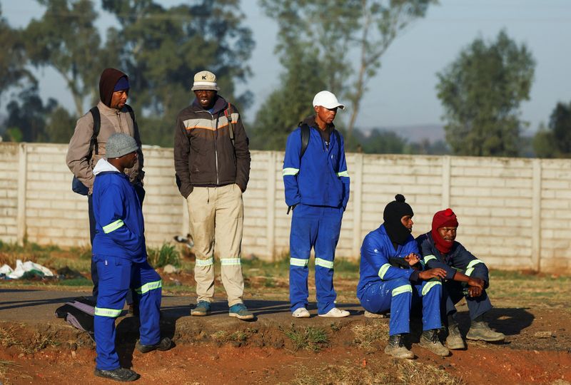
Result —
[[[557,103],[549,125],[537,130],[532,143],[540,158],[571,158],[571,102]]]

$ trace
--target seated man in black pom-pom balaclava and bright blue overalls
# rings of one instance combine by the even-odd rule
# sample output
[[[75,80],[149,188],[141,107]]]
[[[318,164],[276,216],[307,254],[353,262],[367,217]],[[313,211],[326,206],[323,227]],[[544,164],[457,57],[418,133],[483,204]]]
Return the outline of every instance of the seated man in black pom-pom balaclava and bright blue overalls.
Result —
[[[385,222],[363,240],[357,297],[368,312],[381,313],[390,309],[385,354],[398,359],[414,358],[403,339],[410,333],[411,307],[422,304],[420,347],[438,356],[448,356],[450,351],[438,339],[438,330],[442,327],[440,278],[444,277],[445,271],[440,268],[423,270],[418,247],[410,235],[413,215],[413,209],[400,194],[385,207]]]

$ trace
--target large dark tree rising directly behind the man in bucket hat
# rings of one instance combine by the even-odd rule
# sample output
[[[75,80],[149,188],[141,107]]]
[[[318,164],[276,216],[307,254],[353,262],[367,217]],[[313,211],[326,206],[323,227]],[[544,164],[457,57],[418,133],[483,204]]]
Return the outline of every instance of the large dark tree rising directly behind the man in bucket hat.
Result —
[[[250,73],[246,61],[253,48],[239,5],[196,0],[166,9],[151,0],[103,0],[121,26],[109,31],[108,41],[129,76],[129,103],[145,143],[172,146],[174,117],[193,99],[198,71],[216,73],[221,95],[238,108],[250,102],[249,93],[234,98],[234,82]]]

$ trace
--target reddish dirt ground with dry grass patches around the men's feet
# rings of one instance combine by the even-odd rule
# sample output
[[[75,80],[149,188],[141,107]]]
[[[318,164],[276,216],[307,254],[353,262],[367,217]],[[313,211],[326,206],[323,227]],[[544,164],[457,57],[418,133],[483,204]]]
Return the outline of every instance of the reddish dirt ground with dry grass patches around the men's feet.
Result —
[[[141,374],[139,384],[571,384],[570,279],[500,274],[494,281],[497,291],[490,294],[495,308],[489,320],[506,334],[505,342],[468,342],[468,349],[438,357],[418,347],[415,332],[409,344],[416,358],[397,361],[383,353],[388,319],[365,319],[355,304],[354,273],[335,278],[339,302],[352,304],[347,307],[351,317],[315,317],[313,303],[312,318],[292,319],[287,279],[251,270],[246,304],[258,316],[256,322],[227,317],[222,297],[215,304],[220,310],[216,316],[188,317],[186,304],[194,298],[181,287],[193,285],[191,274],[161,274],[167,294],[188,296],[184,306],[167,310],[161,321],[163,335],[172,337],[176,347],[141,354],[134,349],[138,320],[121,317],[121,364]],[[0,282],[0,292],[7,286]],[[309,286],[314,287],[312,279]],[[216,287],[221,287],[218,279]],[[85,333],[57,319],[49,324],[3,322],[1,310],[10,302],[2,298],[0,384],[111,382],[94,377],[94,343]],[[468,308],[461,304],[458,310],[465,334]]]

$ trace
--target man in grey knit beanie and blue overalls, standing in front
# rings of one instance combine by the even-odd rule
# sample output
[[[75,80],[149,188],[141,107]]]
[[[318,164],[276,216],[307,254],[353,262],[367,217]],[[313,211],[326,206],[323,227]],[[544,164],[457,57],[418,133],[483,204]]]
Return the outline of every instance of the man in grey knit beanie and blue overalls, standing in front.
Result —
[[[96,376],[134,381],[139,375],[121,368],[115,349],[115,319],[121,314],[129,289],[141,320],[136,348],[142,353],[171,349],[171,339],[161,339],[161,277],[148,265],[143,211],[125,168],[133,167],[138,145],[131,136],[114,133],[107,140],[106,159],[98,160],[93,190],[96,235],[93,260],[99,275],[95,307]]]

